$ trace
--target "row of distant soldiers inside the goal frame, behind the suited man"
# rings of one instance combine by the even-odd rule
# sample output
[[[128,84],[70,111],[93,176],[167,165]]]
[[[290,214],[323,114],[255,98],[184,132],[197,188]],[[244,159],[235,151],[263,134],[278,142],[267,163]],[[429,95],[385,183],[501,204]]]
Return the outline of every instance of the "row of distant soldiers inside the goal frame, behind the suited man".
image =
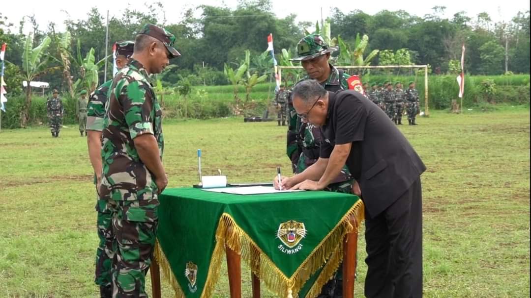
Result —
[[[402,124],[402,115],[404,110],[407,111],[407,121],[409,125],[415,123],[416,115],[419,112],[418,91],[415,89],[415,82],[409,82],[409,88],[402,89],[402,83],[393,84],[387,82],[384,84],[373,83],[371,91],[367,92],[367,97],[378,105],[389,116],[395,124]]]

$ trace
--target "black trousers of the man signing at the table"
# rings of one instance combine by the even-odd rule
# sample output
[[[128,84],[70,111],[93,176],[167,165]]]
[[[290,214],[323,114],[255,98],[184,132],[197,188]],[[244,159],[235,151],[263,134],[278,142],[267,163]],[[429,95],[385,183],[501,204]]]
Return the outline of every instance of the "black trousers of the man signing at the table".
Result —
[[[382,213],[365,220],[365,296],[422,297],[421,179]]]

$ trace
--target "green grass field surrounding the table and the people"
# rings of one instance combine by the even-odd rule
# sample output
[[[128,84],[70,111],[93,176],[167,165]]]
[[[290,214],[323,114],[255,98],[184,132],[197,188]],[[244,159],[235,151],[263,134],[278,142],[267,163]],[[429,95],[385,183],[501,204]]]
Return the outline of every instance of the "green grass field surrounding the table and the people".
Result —
[[[417,122],[400,130],[428,168],[425,296],[528,297],[529,109],[431,111]],[[198,148],[203,174],[220,168],[233,182],[269,180],[276,166],[289,168],[285,129],[276,122],[173,121],[164,131],[169,187],[195,182]],[[45,127],[4,130],[0,165],[0,297],[96,297],[95,192],[85,138],[74,126],[58,139]],[[363,237],[359,257],[356,296],[366,271]],[[243,272],[250,297],[249,270]],[[224,276],[217,297],[228,297]]]

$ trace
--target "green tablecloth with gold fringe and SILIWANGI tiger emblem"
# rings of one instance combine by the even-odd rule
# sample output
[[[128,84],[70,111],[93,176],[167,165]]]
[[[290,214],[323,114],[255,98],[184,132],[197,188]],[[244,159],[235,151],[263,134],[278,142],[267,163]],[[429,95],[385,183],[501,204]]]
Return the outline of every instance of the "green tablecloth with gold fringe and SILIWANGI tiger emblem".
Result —
[[[166,189],[156,257],[177,297],[213,294],[228,245],[272,292],[313,298],[342,259],[342,238],[357,229],[349,216],[359,223],[363,214],[362,201],[342,193]]]

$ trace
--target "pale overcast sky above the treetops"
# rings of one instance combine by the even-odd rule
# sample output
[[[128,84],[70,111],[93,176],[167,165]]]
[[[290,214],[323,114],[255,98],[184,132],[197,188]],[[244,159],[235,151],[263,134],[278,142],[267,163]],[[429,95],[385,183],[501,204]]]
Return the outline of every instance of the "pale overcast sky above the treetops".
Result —
[[[67,19],[67,14],[70,14],[71,19],[85,19],[87,12],[91,7],[98,7],[100,13],[105,16],[106,11],[109,10],[109,15],[121,16],[123,13],[123,3],[129,2],[129,7],[136,10],[145,10],[145,0],[129,0],[129,1],[112,1],[112,0],[90,0],[90,1],[62,1],[52,4],[49,1],[10,1],[4,0],[0,5],[0,13],[7,16],[8,22],[14,23],[18,28],[18,22],[24,15],[35,14],[37,22],[41,30],[46,30],[47,24],[53,21],[57,25],[57,29],[62,31],[64,29],[63,21]],[[193,7],[200,4],[222,6],[226,5],[231,8],[237,6],[237,0],[180,0],[180,1],[165,1],[160,0],[164,4],[166,10],[166,19],[168,23],[177,23],[180,20],[181,12],[186,8]],[[57,3],[57,4],[56,4]],[[491,19],[496,21],[509,21],[515,16],[518,11],[528,11],[528,0],[504,0],[500,2],[493,2],[493,4],[478,5],[479,2],[463,1],[463,0],[437,0],[437,1],[422,1],[415,5],[404,6],[402,1],[329,1],[333,5],[319,4],[318,1],[286,1],[286,0],[272,0],[273,12],[278,17],[285,17],[289,14],[296,14],[297,21],[311,21],[315,22],[321,19],[321,7],[323,17],[326,18],[330,14],[331,7],[338,7],[344,13],[353,10],[362,10],[368,14],[375,14],[381,10],[405,10],[410,14],[417,16],[424,16],[432,13],[433,6],[446,6],[446,17],[451,18],[453,14],[459,11],[466,11],[469,17],[474,17],[480,12],[487,12]],[[316,3],[315,6],[308,5],[309,3]],[[354,3],[362,5],[353,5]],[[364,3],[366,3],[364,5]],[[376,5],[374,5],[376,4]],[[30,26],[25,26],[25,32],[30,30]]]

